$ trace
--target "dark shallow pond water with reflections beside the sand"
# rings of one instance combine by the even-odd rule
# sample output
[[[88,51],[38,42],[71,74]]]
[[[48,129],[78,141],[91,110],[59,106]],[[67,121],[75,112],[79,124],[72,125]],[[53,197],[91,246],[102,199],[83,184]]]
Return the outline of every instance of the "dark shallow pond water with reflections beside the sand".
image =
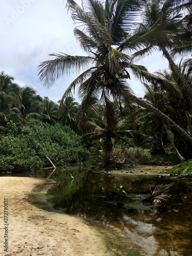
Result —
[[[51,172],[47,169],[31,176],[47,178]],[[111,224],[122,230],[146,255],[192,255],[191,182],[160,179],[154,175],[109,175],[92,172],[84,164],[83,167],[81,164],[57,167],[50,179],[57,181],[46,196],[54,210]],[[120,185],[127,190],[142,184],[173,182],[172,197],[165,212],[159,212],[152,204],[143,204],[147,194],[122,195],[118,190]],[[118,207],[118,202],[123,203],[123,207]]]

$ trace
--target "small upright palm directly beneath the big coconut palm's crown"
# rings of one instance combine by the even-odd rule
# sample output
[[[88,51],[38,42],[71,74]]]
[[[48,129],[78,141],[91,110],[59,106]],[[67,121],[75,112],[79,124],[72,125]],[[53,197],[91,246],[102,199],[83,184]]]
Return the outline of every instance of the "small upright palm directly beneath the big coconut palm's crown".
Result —
[[[116,102],[110,102],[109,104],[110,106],[108,106],[108,111],[110,108],[115,129],[109,122],[108,115],[106,115],[105,106],[101,105],[100,103],[92,106],[88,113],[87,121],[83,123],[84,130],[86,130],[86,133],[83,134],[84,138],[89,137],[91,140],[102,139],[104,165],[108,165],[110,163],[113,139],[124,140],[121,136],[134,138],[134,134],[139,133],[137,130],[135,130],[136,126],[138,126],[136,123],[130,122],[127,118],[121,119],[120,115],[118,117],[119,111],[115,111],[115,113],[113,113],[114,109],[117,110]],[[127,144],[129,144],[129,142],[127,142]]]

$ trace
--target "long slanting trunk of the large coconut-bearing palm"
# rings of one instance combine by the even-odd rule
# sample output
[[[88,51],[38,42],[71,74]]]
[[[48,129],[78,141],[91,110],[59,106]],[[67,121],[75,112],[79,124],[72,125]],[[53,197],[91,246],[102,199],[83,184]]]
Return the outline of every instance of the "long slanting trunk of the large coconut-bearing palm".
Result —
[[[179,134],[181,134],[186,140],[188,140],[191,144],[192,144],[192,137],[186,133],[177,123],[175,123],[172,119],[170,119],[168,116],[166,116],[165,114],[163,114],[161,111],[159,111],[158,109],[155,108],[155,106],[153,106],[150,103],[147,103],[146,101],[136,97],[135,95],[123,90],[123,89],[119,89],[119,92],[124,96],[129,98],[130,100],[134,101],[135,103],[139,104],[140,106],[142,106],[143,108],[150,110],[151,112],[153,112],[154,114],[156,114],[157,116],[159,116],[164,122],[168,123],[168,125],[170,127],[172,127],[174,130],[176,130]]]

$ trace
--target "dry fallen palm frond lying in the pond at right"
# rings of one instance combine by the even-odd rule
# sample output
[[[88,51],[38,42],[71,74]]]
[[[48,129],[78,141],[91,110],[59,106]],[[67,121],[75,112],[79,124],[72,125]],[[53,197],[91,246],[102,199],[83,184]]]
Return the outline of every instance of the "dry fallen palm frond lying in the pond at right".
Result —
[[[152,194],[148,194],[147,197],[145,197],[142,202],[149,202],[152,199],[158,199],[162,203],[167,202],[168,199],[170,198],[170,195],[168,194],[170,188],[174,185],[175,183],[170,183],[167,185],[159,185],[156,186]]]

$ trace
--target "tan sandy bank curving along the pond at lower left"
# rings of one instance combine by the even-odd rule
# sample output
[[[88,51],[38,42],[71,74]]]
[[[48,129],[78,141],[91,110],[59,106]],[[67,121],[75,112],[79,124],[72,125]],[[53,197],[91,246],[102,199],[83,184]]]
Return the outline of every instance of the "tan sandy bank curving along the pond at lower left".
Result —
[[[48,212],[26,200],[38,185],[45,183],[44,179],[1,177],[0,180],[0,255],[110,255],[100,234],[80,218]],[[9,225],[4,220],[4,199],[8,200]]]

